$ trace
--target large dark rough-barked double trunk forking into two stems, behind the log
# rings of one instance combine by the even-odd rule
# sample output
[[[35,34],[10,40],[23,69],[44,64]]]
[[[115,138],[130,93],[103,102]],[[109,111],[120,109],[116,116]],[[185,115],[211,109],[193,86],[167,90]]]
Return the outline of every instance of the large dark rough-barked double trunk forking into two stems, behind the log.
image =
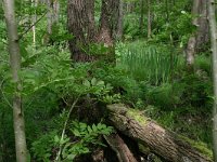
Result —
[[[95,43],[114,48],[113,32],[117,26],[119,0],[102,0],[99,27],[94,23],[94,0],[68,0],[68,30],[74,36],[69,41],[72,59],[91,62],[97,59],[91,51]],[[107,52],[110,54],[111,51]]]

